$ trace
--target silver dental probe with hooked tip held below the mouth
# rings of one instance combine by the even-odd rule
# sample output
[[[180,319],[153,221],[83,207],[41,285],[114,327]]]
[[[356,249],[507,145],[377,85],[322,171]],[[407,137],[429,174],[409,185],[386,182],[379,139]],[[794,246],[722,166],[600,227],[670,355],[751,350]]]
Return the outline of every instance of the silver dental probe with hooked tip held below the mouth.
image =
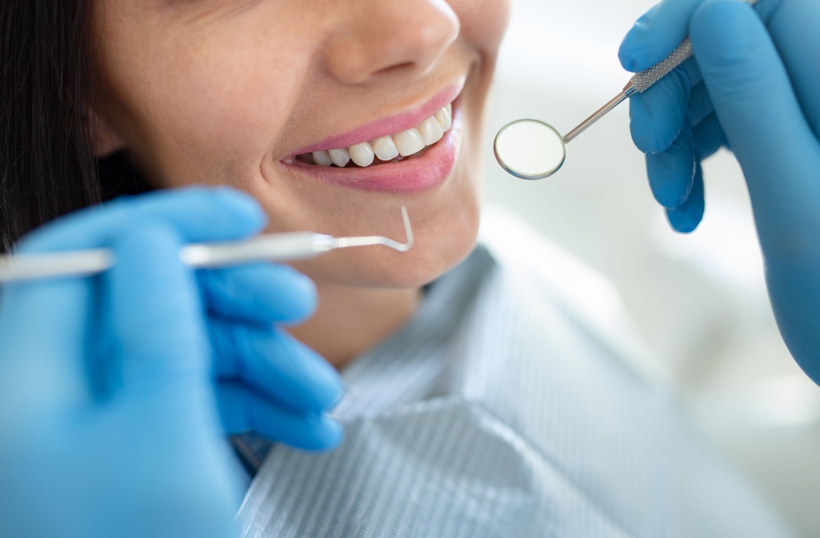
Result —
[[[333,237],[312,231],[298,231],[258,235],[239,241],[189,244],[180,249],[180,261],[196,269],[230,267],[248,262],[296,262],[316,258],[337,248],[376,244],[403,253],[410,250],[413,244],[408,210],[404,206],[402,218],[407,235],[404,243],[380,235]],[[0,256],[0,282],[53,276],[89,276],[107,271],[114,263],[116,257],[111,248],[7,254]]]

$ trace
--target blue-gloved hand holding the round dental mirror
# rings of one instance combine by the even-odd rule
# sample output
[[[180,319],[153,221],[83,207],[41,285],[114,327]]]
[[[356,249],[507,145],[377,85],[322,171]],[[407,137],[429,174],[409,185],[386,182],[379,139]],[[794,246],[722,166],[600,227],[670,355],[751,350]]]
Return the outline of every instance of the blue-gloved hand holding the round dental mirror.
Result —
[[[695,50],[631,99],[632,138],[677,230],[704,211],[699,163],[726,146],[743,167],[783,339],[820,383],[820,2],[665,0],[626,35],[630,71]]]

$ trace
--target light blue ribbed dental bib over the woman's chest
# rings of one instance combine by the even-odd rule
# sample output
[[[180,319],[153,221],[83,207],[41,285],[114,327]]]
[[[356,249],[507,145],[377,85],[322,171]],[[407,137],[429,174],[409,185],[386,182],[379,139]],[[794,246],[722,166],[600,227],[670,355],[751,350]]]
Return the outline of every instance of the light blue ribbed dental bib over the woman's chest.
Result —
[[[244,536],[791,536],[690,431],[611,288],[508,217],[484,226],[344,372],[344,445],[271,449]]]

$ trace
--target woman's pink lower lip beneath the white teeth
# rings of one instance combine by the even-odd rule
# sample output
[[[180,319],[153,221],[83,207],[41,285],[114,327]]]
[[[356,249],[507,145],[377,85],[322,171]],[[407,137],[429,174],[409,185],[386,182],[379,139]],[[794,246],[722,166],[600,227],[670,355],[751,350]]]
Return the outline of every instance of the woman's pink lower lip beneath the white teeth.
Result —
[[[453,126],[419,157],[364,168],[316,166],[298,161],[280,164],[303,176],[348,189],[417,194],[435,189],[449,179],[458,160],[461,140],[461,113],[453,106]]]

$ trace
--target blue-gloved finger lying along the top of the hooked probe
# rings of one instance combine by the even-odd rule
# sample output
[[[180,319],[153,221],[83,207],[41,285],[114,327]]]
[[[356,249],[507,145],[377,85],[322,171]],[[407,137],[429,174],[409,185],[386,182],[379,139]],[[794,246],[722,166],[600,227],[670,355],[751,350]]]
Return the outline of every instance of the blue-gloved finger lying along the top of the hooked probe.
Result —
[[[21,252],[95,248],[145,220],[166,221],[185,242],[237,239],[262,230],[266,216],[248,194],[228,188],[164,190],[75,212],[27,235]]]

